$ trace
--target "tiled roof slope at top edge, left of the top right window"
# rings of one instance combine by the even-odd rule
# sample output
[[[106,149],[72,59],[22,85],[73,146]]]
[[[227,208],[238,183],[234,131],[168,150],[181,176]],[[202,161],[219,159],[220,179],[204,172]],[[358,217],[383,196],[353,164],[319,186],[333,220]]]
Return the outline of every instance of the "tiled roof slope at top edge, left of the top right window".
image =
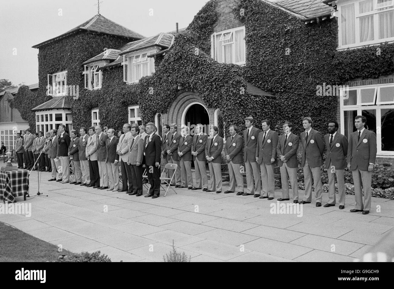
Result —
[[[328,15],[332,11],[331,7],[323,3],[323,0],[279,0],[275,4],[306,18]]]

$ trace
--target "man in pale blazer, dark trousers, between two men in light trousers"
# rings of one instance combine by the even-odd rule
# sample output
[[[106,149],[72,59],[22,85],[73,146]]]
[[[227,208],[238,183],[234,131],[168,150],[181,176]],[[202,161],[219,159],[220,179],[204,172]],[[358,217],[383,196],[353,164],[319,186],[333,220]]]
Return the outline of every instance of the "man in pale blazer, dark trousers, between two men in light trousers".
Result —
[[[93,189],[100,188],[100,174],[99,164],[97,162],[97,134],[95,133],[95,127],[89,127],[89,138],[87,139],[85,155],[89,161],[89,175],[90,183],[87,187],[93,187]]]

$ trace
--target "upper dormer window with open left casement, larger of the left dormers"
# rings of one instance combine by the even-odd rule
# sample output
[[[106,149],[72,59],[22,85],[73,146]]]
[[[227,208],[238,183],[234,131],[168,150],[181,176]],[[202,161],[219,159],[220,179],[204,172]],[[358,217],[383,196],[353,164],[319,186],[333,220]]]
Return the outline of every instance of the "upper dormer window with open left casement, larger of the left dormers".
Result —
[[[154,72],[153,58],[148,57],[148,52],[139,53],[132,56],[123,55],[123,81],[126,83],[136,83],[143,76],[151,75]]]

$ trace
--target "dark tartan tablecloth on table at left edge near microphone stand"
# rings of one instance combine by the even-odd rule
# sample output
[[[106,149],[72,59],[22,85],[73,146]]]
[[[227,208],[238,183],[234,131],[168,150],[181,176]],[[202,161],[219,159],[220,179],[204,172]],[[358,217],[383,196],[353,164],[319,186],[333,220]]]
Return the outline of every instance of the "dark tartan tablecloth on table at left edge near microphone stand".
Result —
[[[15,197],[28,195],[29,171],[0,171],[0,200],[14,202]]]

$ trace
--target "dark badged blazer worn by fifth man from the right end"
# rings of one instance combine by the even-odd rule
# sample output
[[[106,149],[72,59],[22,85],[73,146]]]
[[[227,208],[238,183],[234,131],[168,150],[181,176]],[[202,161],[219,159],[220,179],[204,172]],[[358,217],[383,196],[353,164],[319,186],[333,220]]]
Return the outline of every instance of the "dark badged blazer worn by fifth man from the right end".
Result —
[[[276,165],[277,164],[277,146],[279,136],[276,131],[269,129],[266,134],[266,138],[263,143],[264,131],[258,134],[257,147],[256,147],[256,158],[258,158],[258,164],[264,162],[264,164]],[[271,163],[271,158],[275,158],[275,162]]]

